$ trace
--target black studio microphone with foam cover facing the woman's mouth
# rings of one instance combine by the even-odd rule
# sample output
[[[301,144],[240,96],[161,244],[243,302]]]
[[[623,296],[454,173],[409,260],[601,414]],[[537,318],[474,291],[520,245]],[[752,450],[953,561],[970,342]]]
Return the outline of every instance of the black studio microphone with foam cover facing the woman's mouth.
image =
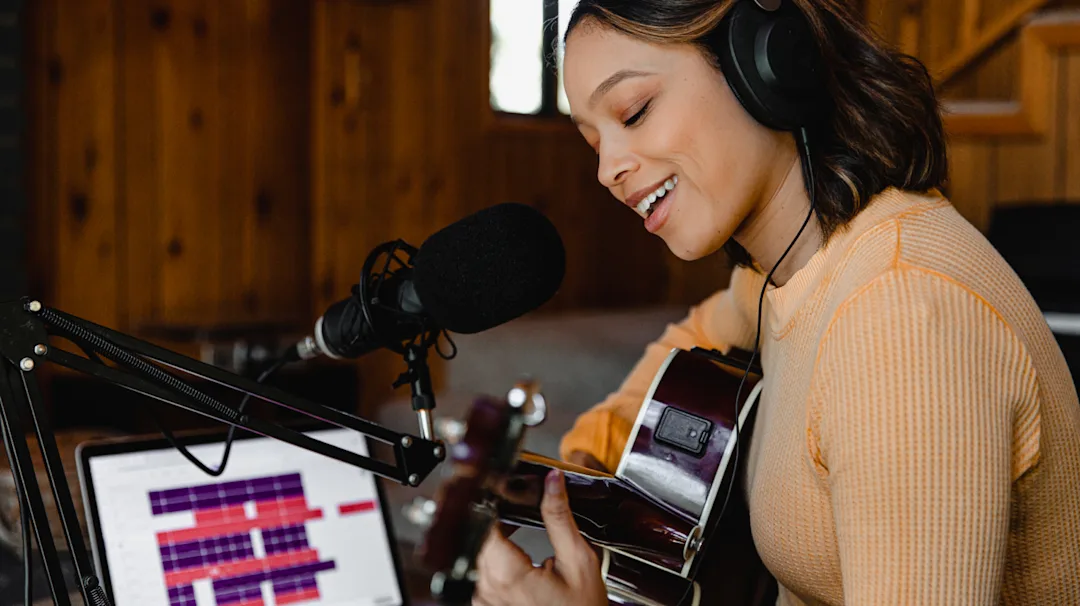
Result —
[[[401,261],[400,251],[408,261]],[[390,269],[393,261],[401,267]],[[400,240],[376,247],[352,296],[332,305],[287,355],[359,358],[380,348],[405,353],[407,344],[430,346],[442,331],[480,333],[546,302],[565,271],[563,241],[543,214],[525,204],[490,206],[435,232],[419,250]]]

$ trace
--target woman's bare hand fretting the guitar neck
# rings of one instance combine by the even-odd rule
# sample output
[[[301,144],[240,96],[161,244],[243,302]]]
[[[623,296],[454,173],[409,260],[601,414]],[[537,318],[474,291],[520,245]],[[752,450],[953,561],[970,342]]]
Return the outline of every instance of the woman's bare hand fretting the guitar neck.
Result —
[[[480,578],[473,606],[607,606],[599,561],[578,530],[558,470],[548,474],[540,514],[555,556],[535,567],[498,526],[492,527],[476,557]]]

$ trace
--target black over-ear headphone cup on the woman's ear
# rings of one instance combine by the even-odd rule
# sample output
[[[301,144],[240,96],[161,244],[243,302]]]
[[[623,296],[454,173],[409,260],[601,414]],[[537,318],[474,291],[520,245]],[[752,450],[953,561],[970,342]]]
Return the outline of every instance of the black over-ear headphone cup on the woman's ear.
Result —
[[[793,0],[737,0],[711,37],[731,91],[755,120],[798,131],[824,119],[821,52]]]

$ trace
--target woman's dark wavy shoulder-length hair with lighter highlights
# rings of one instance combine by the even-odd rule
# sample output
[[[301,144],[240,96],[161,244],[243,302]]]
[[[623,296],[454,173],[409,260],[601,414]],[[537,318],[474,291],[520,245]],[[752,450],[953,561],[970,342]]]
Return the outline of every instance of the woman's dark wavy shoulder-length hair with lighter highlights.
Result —
[[[753,0],[581,0],[570,32],[591,22],[653,43],[698,46],[719,70],[717,37],[710,36],[734,2]],[[826,67],[829,118],[812,125],[815,214],[823,235],[895,187],[929,191],[948,176],[945,130],[926,66],[880,39],[846,0],[794,1],[810,22]],[[725,252],[753,267],[729,239]]]

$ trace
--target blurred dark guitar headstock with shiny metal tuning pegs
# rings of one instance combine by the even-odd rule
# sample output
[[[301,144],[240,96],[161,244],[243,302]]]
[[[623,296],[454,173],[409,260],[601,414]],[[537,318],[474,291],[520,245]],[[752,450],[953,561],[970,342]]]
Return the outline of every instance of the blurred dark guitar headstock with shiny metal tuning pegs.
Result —
[[[496,495],[517,462],[526,428],[542,422],[544,414],[543,398],[528,381],[517,383],[504,399],[473,402],[463,434],[448,445],[454,472],[435,495],[418,552],[422,566],[433,571],[431,592],[436,600],[471,602],[476,556],[498,521]]]

